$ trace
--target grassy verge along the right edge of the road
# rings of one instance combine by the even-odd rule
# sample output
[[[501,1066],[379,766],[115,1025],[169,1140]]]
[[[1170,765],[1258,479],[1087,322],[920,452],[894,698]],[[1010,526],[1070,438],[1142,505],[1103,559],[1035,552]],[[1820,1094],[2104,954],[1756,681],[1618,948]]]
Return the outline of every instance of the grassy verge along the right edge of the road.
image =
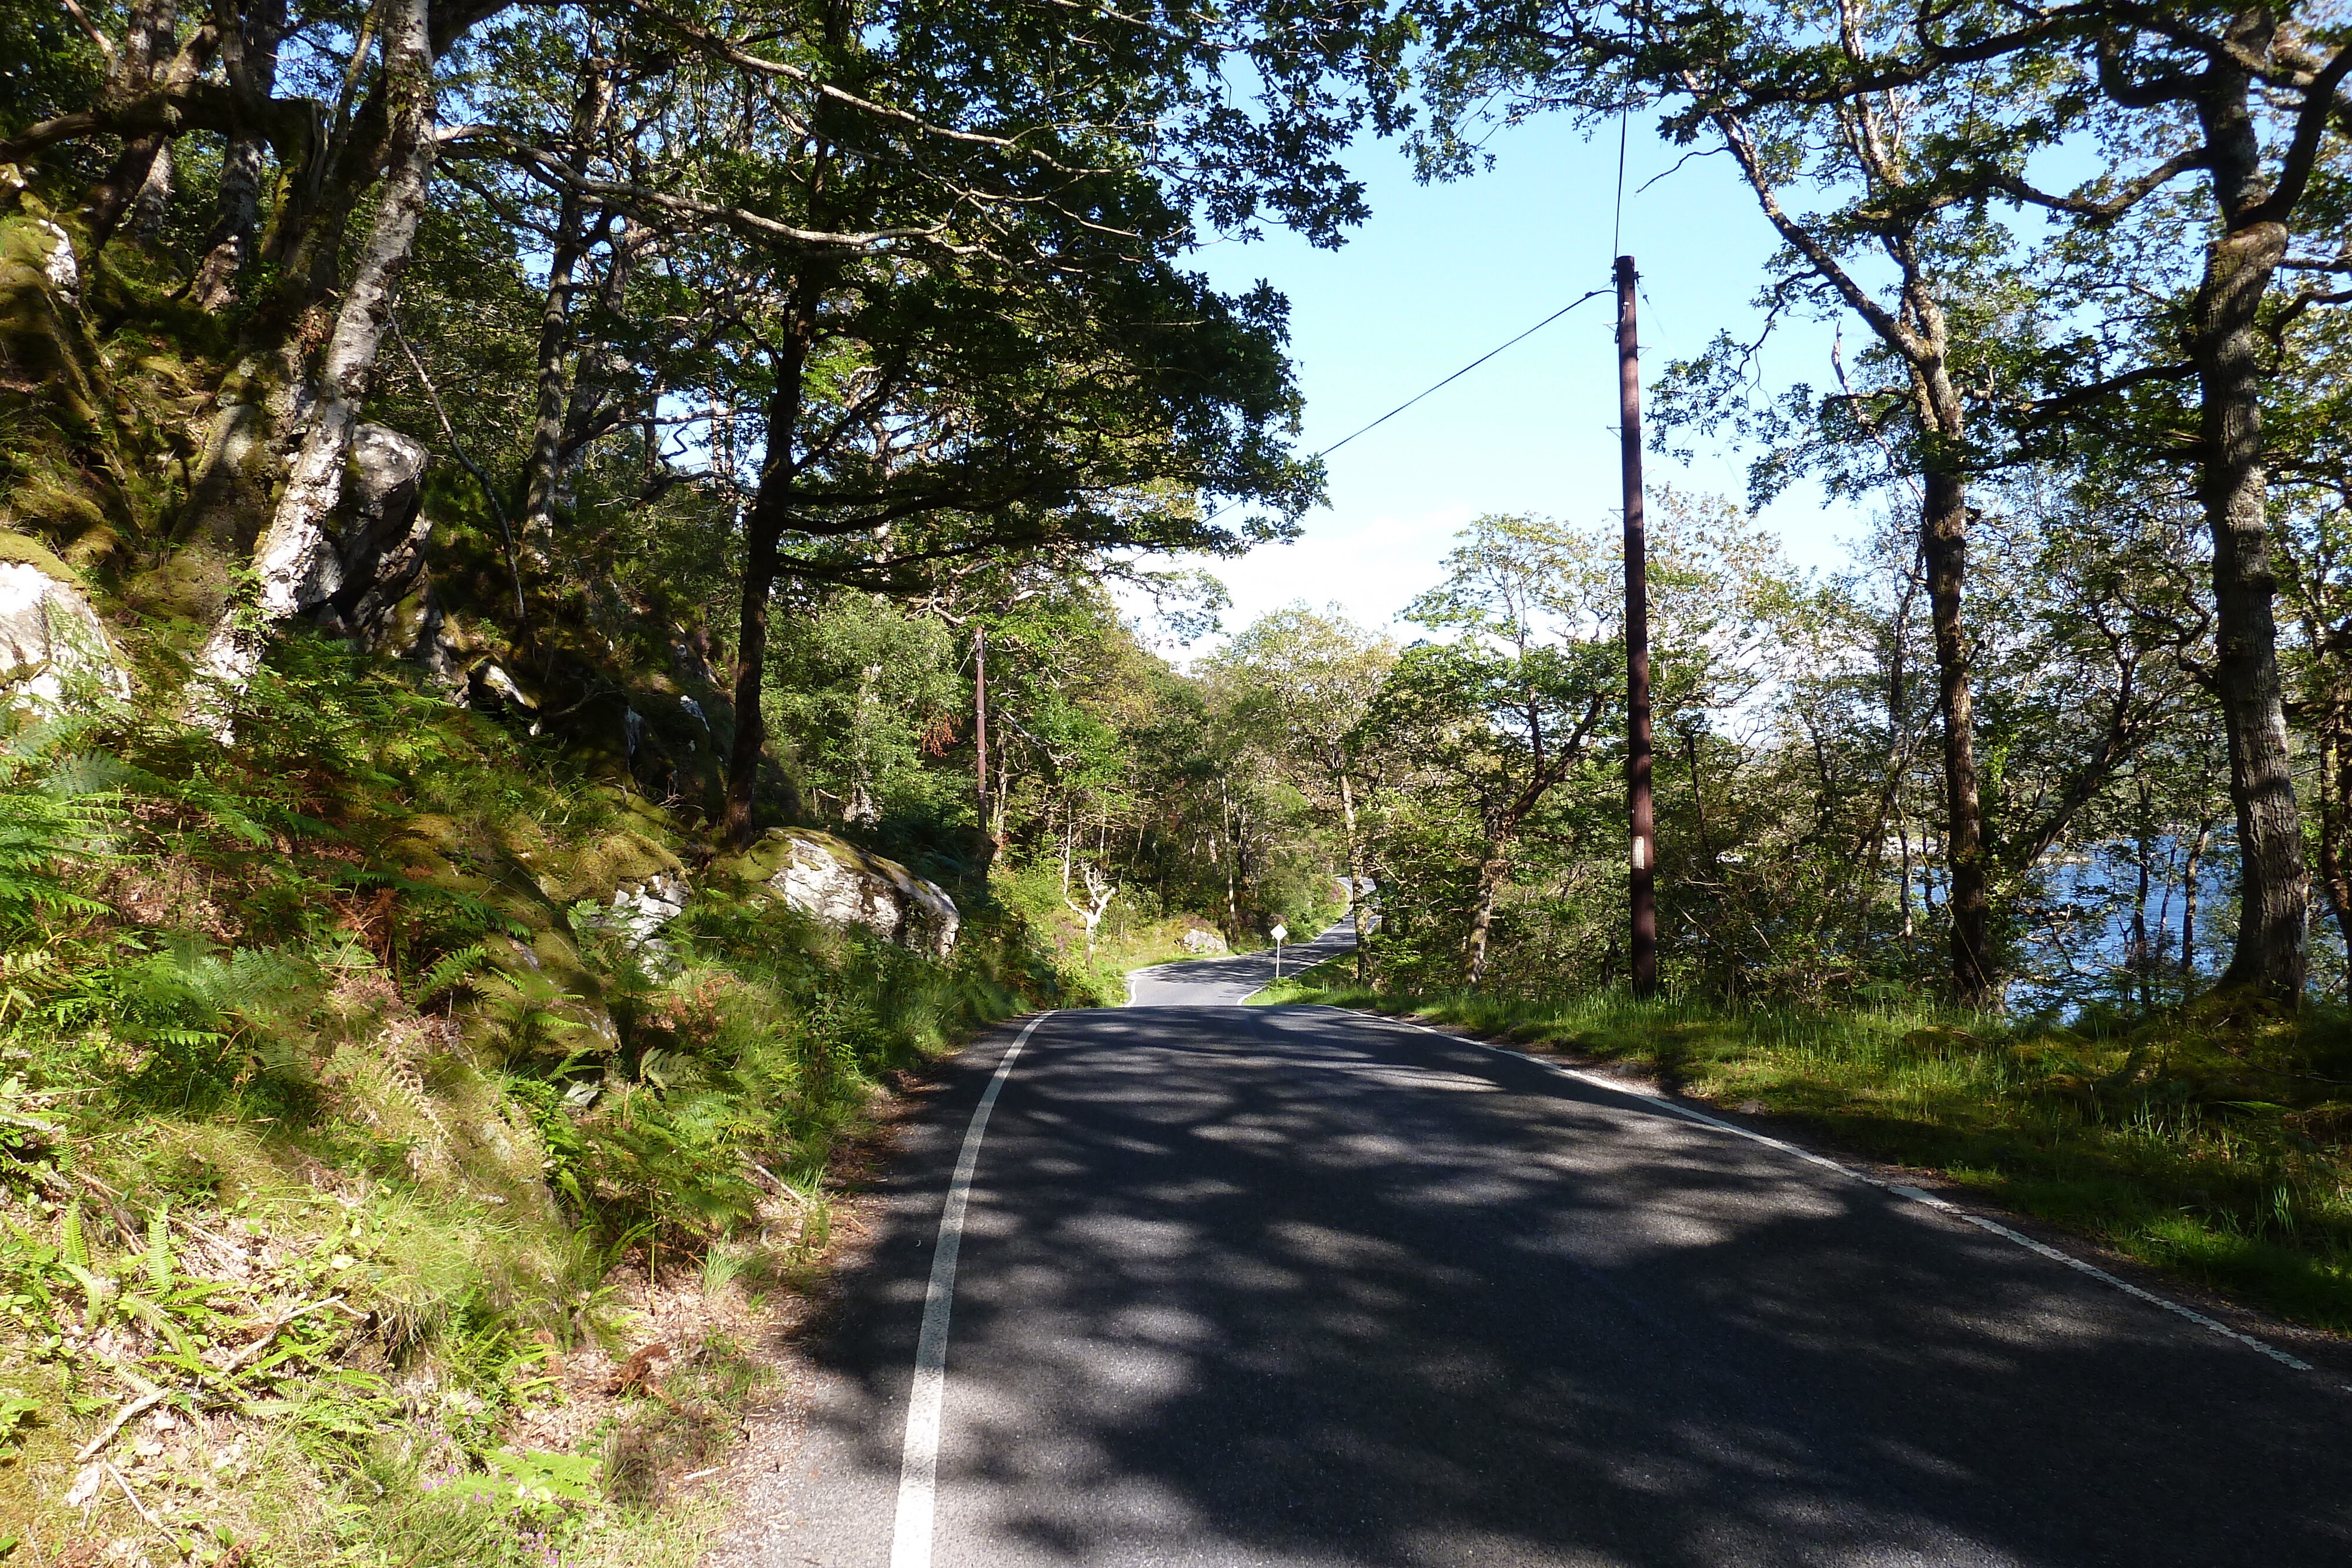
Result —
[[[2352,1333],[2352,1030],[2209,999],[2112,1034],[1919,1004],[1388,994],[1322,964],[1261,992],[1637,1067],[1933,1171],[2296,1324]]]

